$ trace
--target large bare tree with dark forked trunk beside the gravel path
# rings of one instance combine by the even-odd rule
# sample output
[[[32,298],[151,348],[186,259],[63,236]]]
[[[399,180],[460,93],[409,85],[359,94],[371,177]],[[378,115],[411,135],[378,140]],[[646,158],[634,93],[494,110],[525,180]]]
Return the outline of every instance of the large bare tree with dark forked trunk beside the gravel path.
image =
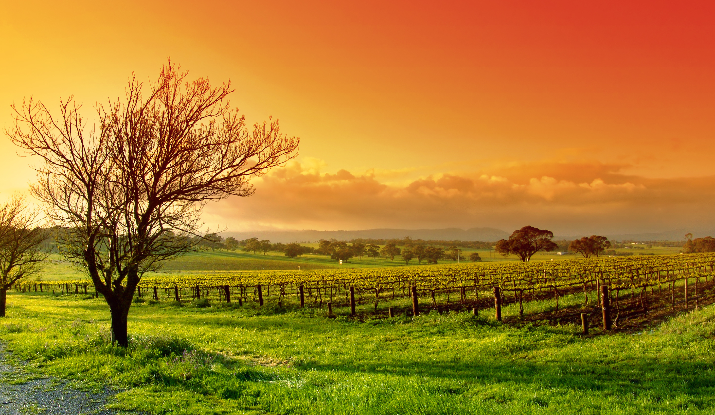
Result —
[[[85,124],[72,99],[61,115],[32,99],[13,106],[15,144],[44,164],[33,194],[46,215],[69,231],[61,254],[83,267],[112,314],[112,335],[128,345],[127,316],[147,271],[194,249],[208,201],[251,196],[253,176],[297,155],[299,139],[278,121],[252,131],[230,109],[229,83],[184,82],[167,64],[148,96],[134,76],[124,100],[97,106],[98,128]]]

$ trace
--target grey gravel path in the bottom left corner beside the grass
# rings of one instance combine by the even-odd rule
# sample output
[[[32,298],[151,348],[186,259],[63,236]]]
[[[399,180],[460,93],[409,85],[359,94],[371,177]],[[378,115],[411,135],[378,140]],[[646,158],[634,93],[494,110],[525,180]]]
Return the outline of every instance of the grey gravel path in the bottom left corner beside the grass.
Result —
[[[104,407],[115,394],[106,386],[98,393],[77,389],[64,379],[29,377],[8,363],[0,346],[0,415],[127,414]]]

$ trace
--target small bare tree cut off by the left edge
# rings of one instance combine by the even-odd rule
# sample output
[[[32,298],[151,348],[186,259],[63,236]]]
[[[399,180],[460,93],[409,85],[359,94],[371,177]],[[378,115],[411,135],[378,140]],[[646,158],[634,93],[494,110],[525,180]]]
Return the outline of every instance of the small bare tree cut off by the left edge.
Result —
[[[45,231],[22,196],[0,205],[0,316],[5,316],[7,290],[44,268],[49,253],[41,251]]]

